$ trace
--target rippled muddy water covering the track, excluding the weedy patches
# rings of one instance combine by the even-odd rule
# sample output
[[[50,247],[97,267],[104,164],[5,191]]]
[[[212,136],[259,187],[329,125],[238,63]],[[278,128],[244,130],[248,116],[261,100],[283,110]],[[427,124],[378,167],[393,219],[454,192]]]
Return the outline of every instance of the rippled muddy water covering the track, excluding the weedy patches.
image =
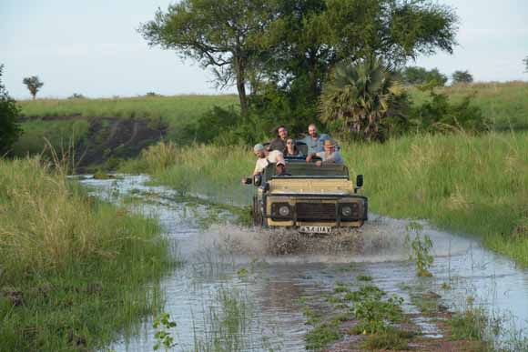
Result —
[[[300,238],[267,233],[229,225],[227,212],[178,200],[174,191],[146,186],[146,181],[147,176],[124,176],[81,182],[97,196],[114,202],[131,196],[139,199],[130,206],[157,216],[175,244],[175,256],[185,261],[162,282],[165,311],[178,324],[172,333],[178,344],[173,350],[191,351],[199,344],[198,350],[208,350],[206,346],[221,335],[218,330],[222,328],[213,321],[222,308],[222,293],[236,295],[246,304],[244,323],[227,350],[305,350],[304,335],[309,327],[300,298],[316,301],[332,292],[338,282],[357,286],[356,277],[364,275],[371,276],[381,289],[405,298],[404,308],[409,312],[418,312],[411,304],[413,293],[433,291],[452,309],[472,297],[492,312],[510,317],[508,322],[518,329],[527,326],[528,271],[483,249],[471,237],[422,224],[423,233],[432,238],[435,259],[433,276],[418,278],[403,245],[407,221],[371,215],[352,240],[348,236]],[[278,247],[295,254],[275,255]],[[442,289],[442,283],[449,283],[452,289]],[[442,337],[426,318],[415,322],[426,336]],[[152,350],[156,339],[151,325],[147,319],[136,336],[121,337],[110,348]]]

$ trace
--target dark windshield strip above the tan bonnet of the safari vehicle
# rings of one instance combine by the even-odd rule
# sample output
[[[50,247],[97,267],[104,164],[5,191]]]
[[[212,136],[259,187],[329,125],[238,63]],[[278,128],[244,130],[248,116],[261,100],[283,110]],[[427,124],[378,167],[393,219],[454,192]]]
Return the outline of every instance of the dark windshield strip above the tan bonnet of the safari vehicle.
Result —
[[[265,179],[270,178],[349,178],[349,168],[344,165],[307,163],[304,160],[287,160],[286,172],[290,176],[276,176],[275,164],[264,170]]]

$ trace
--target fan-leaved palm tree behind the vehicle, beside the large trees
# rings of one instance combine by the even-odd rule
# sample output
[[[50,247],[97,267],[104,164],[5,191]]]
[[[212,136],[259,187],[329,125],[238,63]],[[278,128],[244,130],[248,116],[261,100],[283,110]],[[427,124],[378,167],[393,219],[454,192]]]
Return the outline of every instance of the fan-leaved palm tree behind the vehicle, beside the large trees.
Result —
[[[403,94],[392,67],[370,57],[335,65],[320,96],[320,120],[338,123],[363,140],[382,140],[381,123],[391,103]]]

